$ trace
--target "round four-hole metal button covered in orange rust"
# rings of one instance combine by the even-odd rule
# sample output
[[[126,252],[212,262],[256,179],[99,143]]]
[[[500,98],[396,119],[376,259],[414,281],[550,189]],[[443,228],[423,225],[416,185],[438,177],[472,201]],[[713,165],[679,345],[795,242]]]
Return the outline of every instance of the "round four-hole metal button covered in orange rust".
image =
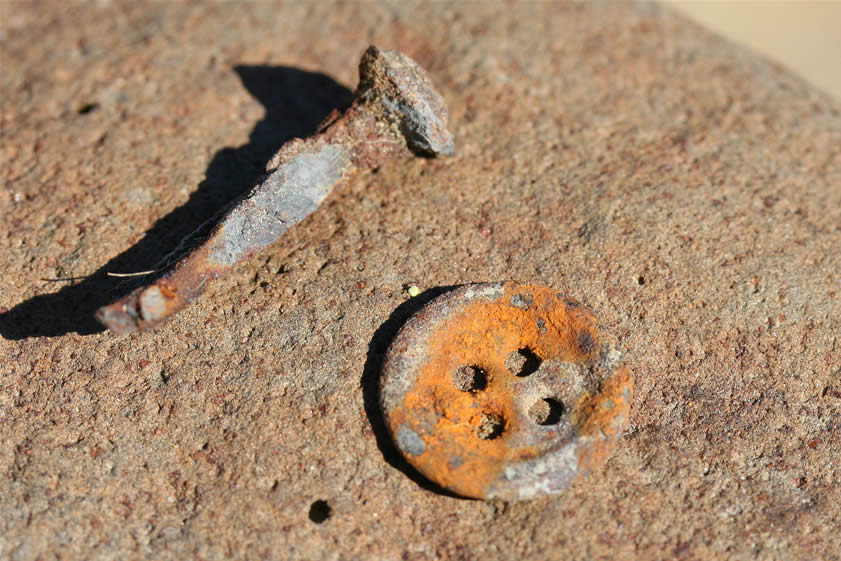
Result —
[[[593,314],[543,286],[472,284],[392,341],[380,406],[397,448],[464,497],[558,493],[612,454],[633,377]]]

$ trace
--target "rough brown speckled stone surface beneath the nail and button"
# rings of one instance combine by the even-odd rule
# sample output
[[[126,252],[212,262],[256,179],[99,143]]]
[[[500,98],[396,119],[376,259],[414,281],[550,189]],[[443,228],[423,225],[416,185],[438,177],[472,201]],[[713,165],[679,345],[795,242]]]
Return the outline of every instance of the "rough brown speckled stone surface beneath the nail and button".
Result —
[[[106,273],[243,194],[370,43],[429,70],[459,155],[360,176],[160,330],[100,331]],[[841,108],[778,66],[550,2],[11,1],[0,57],[0,558],[841,559]],[[509,278],[620,338],[632,428],[558,497],[438,494],[376,370],[441,287]]]

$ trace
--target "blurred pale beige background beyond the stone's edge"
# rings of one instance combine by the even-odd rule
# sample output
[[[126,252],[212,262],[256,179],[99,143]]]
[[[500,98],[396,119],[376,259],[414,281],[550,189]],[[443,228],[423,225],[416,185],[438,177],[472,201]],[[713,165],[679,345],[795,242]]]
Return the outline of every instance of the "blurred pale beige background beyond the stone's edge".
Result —
[[[664,0],[841,100],[841,0]]]

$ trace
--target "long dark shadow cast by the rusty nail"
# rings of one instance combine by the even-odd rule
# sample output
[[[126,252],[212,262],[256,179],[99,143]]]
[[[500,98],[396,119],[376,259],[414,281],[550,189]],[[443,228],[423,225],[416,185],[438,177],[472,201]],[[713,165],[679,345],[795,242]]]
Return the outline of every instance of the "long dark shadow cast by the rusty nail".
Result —
[[[120,281],[107,273],[147,271],[174,261],[174,251],[197,245],[223,211],[245,196],[265,173],[271,157],[288,140],[316,132],[333,110],[347,106],[353,93],[329,76],[286,66],[237,66],[243,86],[266,109],[248,143],[219,150],[207,166],[205,179],[184,205],[159,219],[134,246],[108,261],[81,282],[58,292],[25,300],[0,314],[0,335],[6,339],[58,337],[71,332],[98,333],[94,318],[101,306],[125,296],[141,284],[163,275]],[[186,253],[186,251],[184,251]]]

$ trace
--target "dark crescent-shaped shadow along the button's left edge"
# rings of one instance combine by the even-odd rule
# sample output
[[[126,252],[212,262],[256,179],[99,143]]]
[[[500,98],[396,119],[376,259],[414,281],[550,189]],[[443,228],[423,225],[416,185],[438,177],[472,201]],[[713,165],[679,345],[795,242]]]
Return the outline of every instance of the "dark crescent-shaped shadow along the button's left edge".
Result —
[[[429,481],[406,461],[391,440],[382,411],[380,411],[380,371],[382,370],[383,359],[391,341],[412,314],[420,310],[430,300],[451,290],[455,290],[459,286],[452,285],[430,288],[397,306],[391,315],[388,316],[388,319],[377,328],[374,336],[371,338],[371,342],[368,344],[368,356],[365,360],[360,385],[362,386],[365,414],[368,416],[368,422],[371,423],[371,429],[374,431],[374,437],[377,439],[377,448],[380,449],[385,461],[391,467],[403,472],[404,475],[422,489],[446,497],[464,499],[464,497],[460,497]]]

